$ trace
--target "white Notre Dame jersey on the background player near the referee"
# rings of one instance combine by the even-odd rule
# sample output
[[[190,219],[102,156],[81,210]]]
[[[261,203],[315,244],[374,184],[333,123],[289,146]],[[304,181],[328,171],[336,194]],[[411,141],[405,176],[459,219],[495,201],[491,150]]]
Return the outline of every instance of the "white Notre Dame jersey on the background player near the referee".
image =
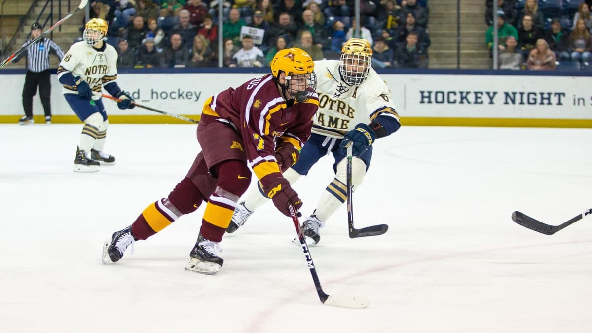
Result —
[[[103,85],[117,80],[117,51],[107,43],[104,45],[104,50],[97,51],[86,41],[73,44],[57,68],[57,78],[59,79],[65,71],[72,72],[74,77],[80,76],[85,79],[92,91],[101,93]],[[62,92],[78,94],[78,88],[63,85]],[[93,100],[99,98],[100,95],[92,97]]]

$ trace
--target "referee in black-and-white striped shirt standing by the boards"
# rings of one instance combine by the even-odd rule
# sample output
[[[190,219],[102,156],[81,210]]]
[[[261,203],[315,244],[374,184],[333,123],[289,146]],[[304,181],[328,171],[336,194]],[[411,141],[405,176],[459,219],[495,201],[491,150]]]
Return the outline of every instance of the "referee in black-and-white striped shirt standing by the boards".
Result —
[[[41,35],[41,24],[33,23],[31,25],[31,40],[36,39]],[[30,41],[25,42],[25,46]],[[25,86],[22,88],[22,107],[25,110],[25,116],[18,120],[21,125],[33,124],[33,96],[37,92],[39,86],[39,97],[41,97],[41,104],[43,104],[43,111],[45,112],[45,122],[52,123],[52,104],[51,92],[52,84],[50,82],[49,73],[49,54],[55,53],[60,61],[64,57],[64,53],[56,43],[52,40],[42,38],[31,46],[17,59],[20,60],[25,53],[27,53],[27,75],[25,75]]]

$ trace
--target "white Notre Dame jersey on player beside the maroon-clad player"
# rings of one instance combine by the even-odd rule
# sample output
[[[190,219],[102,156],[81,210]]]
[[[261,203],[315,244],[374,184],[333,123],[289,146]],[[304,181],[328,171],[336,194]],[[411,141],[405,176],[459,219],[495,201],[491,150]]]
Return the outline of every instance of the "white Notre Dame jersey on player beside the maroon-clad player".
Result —
[[[359,123],[369,124],[378,116],[393,117],[400,122],[387,84],[370,69],[368,78],[358,87],[341,81],[339,60],[317,60],[318,111],[313,133],[342,139]]]

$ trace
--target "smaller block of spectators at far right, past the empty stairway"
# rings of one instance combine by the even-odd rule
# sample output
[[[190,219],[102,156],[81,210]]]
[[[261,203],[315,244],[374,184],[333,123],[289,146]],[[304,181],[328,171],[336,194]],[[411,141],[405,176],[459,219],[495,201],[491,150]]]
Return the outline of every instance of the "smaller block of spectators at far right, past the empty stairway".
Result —
[[[486,0],[485,5],[485,43],[493,53],[497,20],[500,69],[592,69],[592,0]]]

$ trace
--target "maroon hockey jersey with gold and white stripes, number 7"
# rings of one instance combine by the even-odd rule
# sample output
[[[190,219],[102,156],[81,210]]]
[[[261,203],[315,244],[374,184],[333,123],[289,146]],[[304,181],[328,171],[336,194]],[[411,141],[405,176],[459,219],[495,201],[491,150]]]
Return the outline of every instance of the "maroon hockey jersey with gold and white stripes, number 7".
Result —
[[[318,95],[310,91],[304,103],[281,97],[271,74],[229,88],[205,102],[204,114],[233,126],[242,136],[249,167],[262,182],[282,177],[275,159],[276,141],[287,141],[298,151],[310,136]]]

